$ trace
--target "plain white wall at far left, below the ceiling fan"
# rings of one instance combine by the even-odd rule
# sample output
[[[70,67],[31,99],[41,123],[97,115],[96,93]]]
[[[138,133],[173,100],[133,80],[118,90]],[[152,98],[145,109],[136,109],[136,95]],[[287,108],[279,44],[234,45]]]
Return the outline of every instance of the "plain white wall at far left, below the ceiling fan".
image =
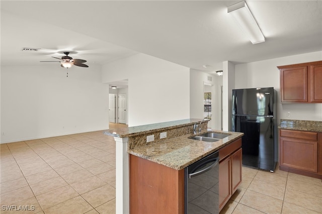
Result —
[[[108,129],[101,66],[1,66],[1,143]]]

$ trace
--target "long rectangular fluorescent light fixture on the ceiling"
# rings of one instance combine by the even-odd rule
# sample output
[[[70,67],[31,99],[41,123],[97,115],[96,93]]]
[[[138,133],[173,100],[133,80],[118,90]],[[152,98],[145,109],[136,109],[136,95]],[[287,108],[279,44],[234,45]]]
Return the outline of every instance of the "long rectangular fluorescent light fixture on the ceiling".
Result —
[[[265,42],[265,37],[245,1],[229,6],[227,12],[253,44]]]

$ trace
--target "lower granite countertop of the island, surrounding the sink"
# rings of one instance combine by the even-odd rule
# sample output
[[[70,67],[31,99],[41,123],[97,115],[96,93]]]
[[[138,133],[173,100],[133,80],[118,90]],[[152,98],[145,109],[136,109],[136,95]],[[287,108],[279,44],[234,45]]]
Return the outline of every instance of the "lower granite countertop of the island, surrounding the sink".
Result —
[[[216,142],[204,142],[189,139],[193,134],[187,134],[158,143],[135,147],[128,150],[128,153],[180,170],[244,135],[244,133],[218,130],[211,130],[211,132],[229,134],[229,136]]]

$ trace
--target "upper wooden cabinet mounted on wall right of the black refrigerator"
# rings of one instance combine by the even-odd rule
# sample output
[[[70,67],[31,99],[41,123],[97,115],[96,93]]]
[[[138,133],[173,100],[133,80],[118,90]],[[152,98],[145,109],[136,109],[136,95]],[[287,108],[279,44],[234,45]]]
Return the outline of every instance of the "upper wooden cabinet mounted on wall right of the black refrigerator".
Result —
[[[322,103],[322,61],[278,68],[281,102]]]

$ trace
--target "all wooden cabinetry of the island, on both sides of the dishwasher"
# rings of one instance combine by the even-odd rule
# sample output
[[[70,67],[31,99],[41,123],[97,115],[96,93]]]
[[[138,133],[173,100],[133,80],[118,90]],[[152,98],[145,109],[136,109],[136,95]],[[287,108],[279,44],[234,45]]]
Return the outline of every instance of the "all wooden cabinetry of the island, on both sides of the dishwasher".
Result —
[[[185,171],[129,155],[130,213],[184,213]],[[241,138],[219,150],[219,210],[241,183]],[[216,201],[214,201],[216,203]]]

